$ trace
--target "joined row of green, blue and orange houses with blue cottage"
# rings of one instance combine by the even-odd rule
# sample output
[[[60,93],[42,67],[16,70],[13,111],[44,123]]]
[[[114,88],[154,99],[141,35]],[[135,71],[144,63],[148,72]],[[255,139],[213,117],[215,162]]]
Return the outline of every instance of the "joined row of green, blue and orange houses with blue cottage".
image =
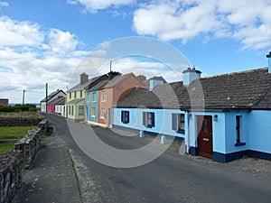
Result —
[[[271,52],[268,68],[208,78],[188,68],[182,81],[109,72],[80,75],[67,92],[66,117],[185,143],[213,161],[243,156],[271,160]]]

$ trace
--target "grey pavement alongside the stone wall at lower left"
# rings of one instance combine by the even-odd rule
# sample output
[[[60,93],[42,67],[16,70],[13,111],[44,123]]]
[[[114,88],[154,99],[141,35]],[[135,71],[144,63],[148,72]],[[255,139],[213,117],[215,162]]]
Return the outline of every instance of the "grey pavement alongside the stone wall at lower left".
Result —
[[[55,135],[47,138],[31,169],[23,171],[23,186],[13,203],[78,203],[79,187],[70,152]]]

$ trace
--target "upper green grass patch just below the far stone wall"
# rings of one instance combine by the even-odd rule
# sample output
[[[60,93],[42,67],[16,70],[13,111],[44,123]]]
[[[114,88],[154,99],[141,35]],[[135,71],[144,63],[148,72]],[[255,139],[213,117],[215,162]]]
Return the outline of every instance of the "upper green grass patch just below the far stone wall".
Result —
[[[21,139],[28,130],[37,126],[0,126],[0,139]]]

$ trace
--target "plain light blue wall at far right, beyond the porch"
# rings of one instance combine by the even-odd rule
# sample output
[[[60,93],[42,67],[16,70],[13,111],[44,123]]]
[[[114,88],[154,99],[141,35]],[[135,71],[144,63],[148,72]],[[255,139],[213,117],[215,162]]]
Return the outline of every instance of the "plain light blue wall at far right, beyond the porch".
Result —
[[[271,153],[271,111],[252,111],[248,118],[249,149]]]

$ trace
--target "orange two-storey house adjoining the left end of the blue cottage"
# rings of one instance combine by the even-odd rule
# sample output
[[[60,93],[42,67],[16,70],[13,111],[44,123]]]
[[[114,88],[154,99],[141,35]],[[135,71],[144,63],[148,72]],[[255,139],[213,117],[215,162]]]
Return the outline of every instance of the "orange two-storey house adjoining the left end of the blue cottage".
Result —
[[[100,88],[98,123],[112,126],[112,106],[135,87],[145,87],[145,84],[134,73],[128,73],[109,80],[105,87]]]

